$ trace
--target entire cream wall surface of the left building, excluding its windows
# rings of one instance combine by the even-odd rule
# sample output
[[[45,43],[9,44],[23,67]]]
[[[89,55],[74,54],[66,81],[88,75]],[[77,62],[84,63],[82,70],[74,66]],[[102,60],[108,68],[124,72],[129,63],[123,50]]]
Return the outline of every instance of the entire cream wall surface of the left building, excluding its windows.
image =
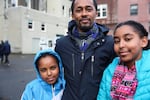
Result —
[[[51,7],[49,1],[51,0],[47,0],[48,6]],[[7,19],[4,19],[4,9],[2,9],[0,11],[0,40],[9,40],[13,53],[30,54],[36,53],[40,49],[39,42],[41,38],[53,41],[56,39],[57,34],[65,35],[70,20],[68,17],[69,12],[66,12],[68,16],[63,16],[58,5],[63,5],[62,3],[65,5],[66,2],[60,0],[61,2],[59,1],[58,4],[58,1],[52,2],[57,5],[55,5],[55,12],[48,13],[22,6],[10,7],[6,9]],[[1,5],[4,5],[3,2],[0,3],[0,8],[4,8]],[[70,6],[70,4],[68,5]],[[52,7],[52,9],[54,8]],[[33,30],[28,29],[29,20],[33,21]],[[41,30],[42,23],[46,26],[44,32]]]

